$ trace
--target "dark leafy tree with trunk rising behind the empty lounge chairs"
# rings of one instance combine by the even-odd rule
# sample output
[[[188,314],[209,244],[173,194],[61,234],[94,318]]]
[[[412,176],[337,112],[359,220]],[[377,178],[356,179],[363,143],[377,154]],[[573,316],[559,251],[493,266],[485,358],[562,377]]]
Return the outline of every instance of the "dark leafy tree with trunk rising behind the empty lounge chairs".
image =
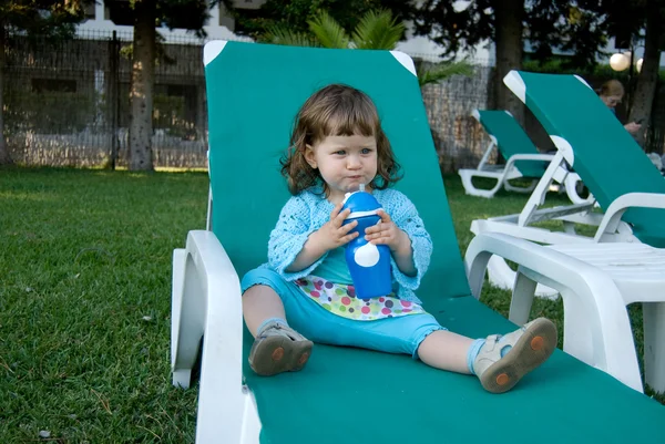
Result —
[[[473,50],[494,42],[497,70],[493,90],[495,106],[523,120],[522,103],[503,86],[510,70],[522,66],[524,40],[533,58],[546,60],[555,49],[571,51],[570,63],[595,63],[606,43],[603,2],[580,0],[473,0],[460,2],[426,0],[415,13],[416,32],[429,35],[446,54]]]

